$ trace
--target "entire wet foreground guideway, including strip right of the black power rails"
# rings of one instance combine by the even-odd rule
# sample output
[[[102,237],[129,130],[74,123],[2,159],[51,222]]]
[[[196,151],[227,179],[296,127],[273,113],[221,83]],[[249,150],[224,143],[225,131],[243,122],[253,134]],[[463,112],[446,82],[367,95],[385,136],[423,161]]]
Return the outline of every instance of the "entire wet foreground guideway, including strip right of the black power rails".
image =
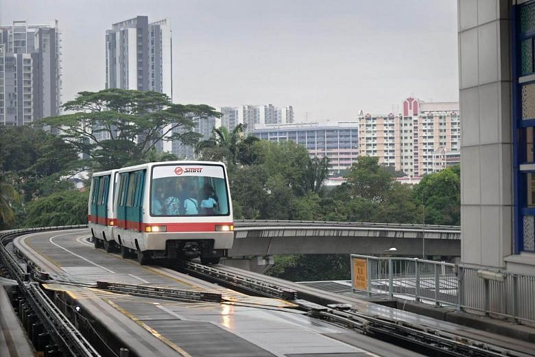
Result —
[[[256,281],[254,284],[264,288],[271,284],[292,290],[297,285],[235,268],[209,266],[202,273],[207,278],[198,279],[194,270],[185,274],[160,266],[139,266],[95,249],[88,236],[86,229],[30,232],[16,238],[11,248],[47,272],[36,277],[45,282],[43,287],[52,293],[56,305],[99,351],[108,348],[117,352],[126,347],[130,356],[417,356],[357,330],[382,334],[396,343],[419,341],[428,352],[438,348],[447,356],[464,355],[452,354],[453,350],[473,352],[473,356],[527,356],[519,349],[474,339],[476,334],[474,338],[465,332],[459,334],[455,331],[463,327],[458,325],[329,292],[300,286],[295,288],[298,299],[285,301],[224,288],[239,279]],[[193,264],[192,268],[195,266],[202,267]],[[211,284],[209,276],[221,284]],[[116,283],[97,286],[96,281]],[[123,290],[138,286],[145,293],[158,290],[160,295],[141,297],[139,290],[131,295],[112,291],[110,286]],[[219,296],[220,301],[170,300],[161,295],[178,290],[204,292],[212,298]],[[354,312],[302,300],[308,297],[320,303],[348,303]],[[302,309],[304,306],[307,310]],[[91,328],[87,321],[92,321]],[[397,337],[388,338],[390,334]],[[431,347],[424,341],[438,344]]]

